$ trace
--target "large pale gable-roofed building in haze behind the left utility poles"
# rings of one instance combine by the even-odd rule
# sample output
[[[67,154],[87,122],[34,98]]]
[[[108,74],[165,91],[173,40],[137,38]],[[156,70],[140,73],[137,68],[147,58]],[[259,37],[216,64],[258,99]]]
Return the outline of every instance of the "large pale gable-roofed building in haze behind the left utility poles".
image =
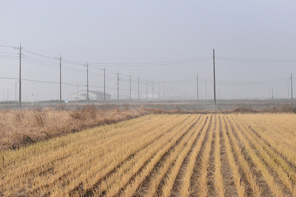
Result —
[[[86,100],[87,90],[81,90],[71,95],[71,100]],[[101,91],[88,91],[89,100],[104,100],[104,92]],[[106,93],[106,100],[111,100],[111,95]]]

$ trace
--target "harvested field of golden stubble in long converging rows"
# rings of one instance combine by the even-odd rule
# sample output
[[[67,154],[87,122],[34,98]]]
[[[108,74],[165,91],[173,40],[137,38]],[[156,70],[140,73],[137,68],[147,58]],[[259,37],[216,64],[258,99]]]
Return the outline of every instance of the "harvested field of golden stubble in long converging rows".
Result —
[[[296,114],[149,114],[0,152],[0,196],[295,197]]]

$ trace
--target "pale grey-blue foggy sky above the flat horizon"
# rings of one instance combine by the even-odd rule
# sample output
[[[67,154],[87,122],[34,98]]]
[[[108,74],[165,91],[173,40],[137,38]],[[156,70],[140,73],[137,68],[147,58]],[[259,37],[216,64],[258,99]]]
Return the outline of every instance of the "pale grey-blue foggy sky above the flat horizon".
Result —
[[[212,99],[213,49],[217,57],[294,60],[264,63],[217,58],[215,62],[218,99],[267,99],[271,88],[274,98],[287,98],[291,72],[296,76],[295,8],[294,0],[1,0],[0,45],[18,47],[22,43],[25,49],[43,56],[61,55],[62,82],[78,83],[79,91],[86,89],[86,67],[63,61],[89,62],[89,85],[98,87],[104,86],[101,69],[105,66],[106,91],[112,99],[117,99],[117,71],[119,88],[124,89],[120,99],[129,95],[128,75],[132,76],[132,93],[137,94],[139,77],[140,95],[146,94],[148,80],[148,94],[152,94],[154,81],[154,94],[159,86],[160,94],[163,89],[167,94],[169,87],[169,94],[178,89],[194,99],[196,74],[200,77],[199,98],[205,99],[207,80],[207,99]],[[0,77],[19,77],[18,52],[0,46]],[[32,59],[31,63],[23,61],[22,78],[59,82],[59,60],[25,50],[22,53],[24,60],[34,58],[37,64],[32,64]],[[186,64],[132,66],[207,57],[209,60]],[[50,63],[45,64],[47,60]],[[110,66],[122,63],[127,66]],[[186,79],[191,80],[182,81]],[[275,79],[281,80],[266,82]],[[7,99],[7,88],[9,99],[14,100],[15,82],[18,80],[0,79],[0,100],[3,91]],[[77,87],[63,85],[62,90],[62,99],[70,99]],[[22,101],[31,101],[32,93],[34,100],[59,99],[59,84],[23,80]]]

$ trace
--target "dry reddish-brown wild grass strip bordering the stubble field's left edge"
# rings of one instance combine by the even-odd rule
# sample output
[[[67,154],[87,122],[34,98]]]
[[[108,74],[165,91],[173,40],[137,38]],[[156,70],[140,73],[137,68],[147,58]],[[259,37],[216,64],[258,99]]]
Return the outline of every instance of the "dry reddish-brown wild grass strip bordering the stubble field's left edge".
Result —
[[[63,108],[0,110],[0,151],[18,149],[66,133],[121,122],[150,113],[148,110],[88,105]]]

